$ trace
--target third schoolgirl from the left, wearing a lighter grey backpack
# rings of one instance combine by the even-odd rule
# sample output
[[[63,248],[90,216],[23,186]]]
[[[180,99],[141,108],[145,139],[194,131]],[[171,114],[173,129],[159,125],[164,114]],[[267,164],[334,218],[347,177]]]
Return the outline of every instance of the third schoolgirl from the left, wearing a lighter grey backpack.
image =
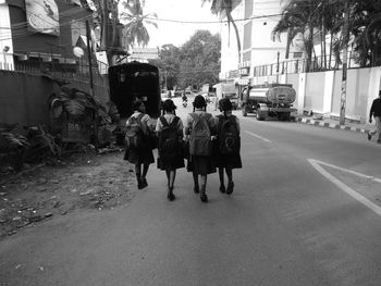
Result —
[[[208,202],[206,194],[207,175],[216,173],[216,166],[211,158],[211,136],[214,133],[214,119],[206,112],[207,102],[201,95],[195,97],[194,111],[189,113],[185,124],[185,135],[189,141],[190,158],[187,171],[193,173],[194,191],[200,194],[202,202]],[[200,176],[200,186],[198,184]]]

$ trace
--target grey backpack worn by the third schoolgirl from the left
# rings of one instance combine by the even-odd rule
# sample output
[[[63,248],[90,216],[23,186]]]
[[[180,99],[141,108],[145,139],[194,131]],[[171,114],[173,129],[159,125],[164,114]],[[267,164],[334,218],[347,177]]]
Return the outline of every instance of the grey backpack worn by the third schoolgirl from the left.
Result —
[[[189,115],[194,119],[190,132],[189,153],[193,156],[211,156],[210,128],[205,119],[206,116],[197,113],[189,113]]]

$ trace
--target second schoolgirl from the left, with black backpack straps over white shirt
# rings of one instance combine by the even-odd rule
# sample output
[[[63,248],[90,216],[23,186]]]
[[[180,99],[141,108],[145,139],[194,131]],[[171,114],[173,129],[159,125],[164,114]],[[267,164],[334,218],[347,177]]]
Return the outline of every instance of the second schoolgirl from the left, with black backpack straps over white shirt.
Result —
[[[163,115],[158,119],[156,124],[156,133],[159,138],[158,169],[165,171],[168,181],[167,198],[173,201],[176,198],[173,194],[176,170],[185,166],[181,145],[183,122],[175,115],[176,105],[171,99],[167,99],[162,107]]]

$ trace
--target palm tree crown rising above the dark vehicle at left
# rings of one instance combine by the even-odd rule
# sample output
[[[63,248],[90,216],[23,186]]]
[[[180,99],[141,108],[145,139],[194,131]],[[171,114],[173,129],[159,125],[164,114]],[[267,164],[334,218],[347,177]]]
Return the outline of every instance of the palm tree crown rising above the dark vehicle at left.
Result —
[[[123,39],[126,47],[134,47],[135,43],[146,47],[149,42],[146,24],[158,27],[155,22],[149,21],[149,17],[157,17],[157,14],[144,14],[144,0],[142,2],[140,0],[126,0],[123,2],[123,7],[127,11],[121,14],[121,18],[127,21],[123,28]]]

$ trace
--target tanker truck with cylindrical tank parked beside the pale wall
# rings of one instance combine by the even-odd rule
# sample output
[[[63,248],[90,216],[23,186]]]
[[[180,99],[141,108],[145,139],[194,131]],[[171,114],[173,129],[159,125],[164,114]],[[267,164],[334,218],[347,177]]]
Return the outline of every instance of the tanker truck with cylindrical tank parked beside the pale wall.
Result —
[[[249,85],[242,92],[242,114],[255,113],[259,121],[269,117],[290,121],[292,113],[296,112],[292,104],[295,98],[296,91],[292,85]]]

